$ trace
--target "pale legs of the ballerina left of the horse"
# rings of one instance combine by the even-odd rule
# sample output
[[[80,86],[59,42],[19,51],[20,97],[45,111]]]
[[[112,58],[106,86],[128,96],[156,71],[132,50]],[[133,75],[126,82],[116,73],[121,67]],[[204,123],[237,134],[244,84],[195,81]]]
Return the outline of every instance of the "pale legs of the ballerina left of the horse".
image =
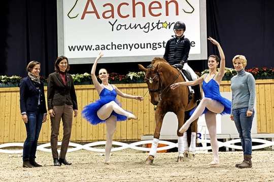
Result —
[[[132,113],[125,111],[123,108],[121,108],[116,102],[111,101],[108,104],[105,104],[97,111],[97,116],[101,120],[106,120],[106,127],[107,127],[107,142],[106,142],[106,159],[105,163],[110,164],[110,151],[112,147],[112,139],[113,134],[116,128],[116,116],[112,115],[112,111],[116,112],[117,114],[121,114],[124,116],[127,116],[128,118],[135,119],[136,116],[134,116]]]

